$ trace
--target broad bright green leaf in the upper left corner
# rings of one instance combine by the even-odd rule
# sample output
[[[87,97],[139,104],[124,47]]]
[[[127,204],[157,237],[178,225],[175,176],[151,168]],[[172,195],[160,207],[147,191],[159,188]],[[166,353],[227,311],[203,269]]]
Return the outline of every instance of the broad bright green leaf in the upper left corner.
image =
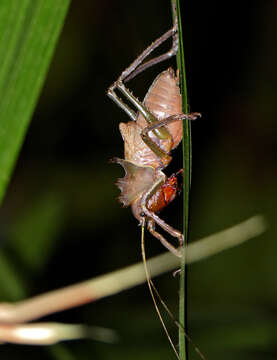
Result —
[[[0,2],[0,201],[43,85],[70,0]]]

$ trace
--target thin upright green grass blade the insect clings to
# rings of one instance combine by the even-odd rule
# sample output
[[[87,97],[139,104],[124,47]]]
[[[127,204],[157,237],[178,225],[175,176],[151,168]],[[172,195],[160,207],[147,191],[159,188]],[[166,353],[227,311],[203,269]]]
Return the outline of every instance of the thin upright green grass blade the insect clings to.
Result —
[[[188,96],[186,84],[185,58],[182,38],[182,24],[180,1],[171,0],[173,20],[177,17],[178,21],[178,37],[179,49],[177,53],[177,67],[180,71],[180,87],[182,94],[183,113],[188,113]],[[175,10],[176,9],[176,10]],[[191,126],[190,121],[185,120],[183,123],[183,192],[184,192],[184,251],[181,258],[181,273],[180,273],[180,289],[179,289],[179,322],[183,325],[187,333],[187,245],[189,237],[189,200],[190,200],[190,183],[191,183]],[[188,359],[187,339],[183,329],[179,328],[179,356],[182,360]]]

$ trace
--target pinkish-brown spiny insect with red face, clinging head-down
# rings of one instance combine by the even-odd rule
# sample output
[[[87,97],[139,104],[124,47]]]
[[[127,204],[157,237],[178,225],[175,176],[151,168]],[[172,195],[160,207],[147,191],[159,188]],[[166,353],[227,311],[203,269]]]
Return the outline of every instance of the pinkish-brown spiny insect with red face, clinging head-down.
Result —
[[[160,44],[172,37],[171,49],[152,60],[145,58]],[[177,174],[167,177],[163,169],[172,160],[171,150],[182,140],[182,121],[194,120],[199,113],[183,114],[179,90],[179,76],[172,68],[163,71],[150,86],[141,103],[125,83],[146,68],[166,60],[178,50],[177,24],[163,36],[154,41],[143,53],[122,72],[118,80],[108,89],[108,96],[121,108],[131,121],[120,123],[119,129],[124,140],[125,158],[113,158],[120,164],[125,176],[117,180],[121,191],[119,196],[123,206],[131,206],[133,215],[141,225],[147,224],[149,232],[176,256],[180,249],[168,242],[156,230],[156,224],[165,232],[183,244],[183,235],[179,230],[167,224],[157,214],[166,207],[179,190]],[[116,90],[134,106],[133,111],[116,93]]]

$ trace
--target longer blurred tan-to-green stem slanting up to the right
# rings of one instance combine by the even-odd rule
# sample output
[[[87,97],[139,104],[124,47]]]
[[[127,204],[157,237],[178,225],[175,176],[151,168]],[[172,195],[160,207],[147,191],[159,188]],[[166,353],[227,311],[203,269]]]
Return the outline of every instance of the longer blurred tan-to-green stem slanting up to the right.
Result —
[[[266,229],[267,223],[264,217],[256,215],[228,229],[194,241],[188,245],[188,264],[241,245],[263,234]],[[165,252],[149,259],[147,264],[150,276],[153,278],[175,270],[180,266],[180,261],[171,252]],[[33,298],[8,304],[1,303],[0,322],[14,324],[36,320],[55,312],[118,294],[121,291],[143,284],[146,280],[143,263],[137,263]],[[22,287],[22,284],[20,286]]]

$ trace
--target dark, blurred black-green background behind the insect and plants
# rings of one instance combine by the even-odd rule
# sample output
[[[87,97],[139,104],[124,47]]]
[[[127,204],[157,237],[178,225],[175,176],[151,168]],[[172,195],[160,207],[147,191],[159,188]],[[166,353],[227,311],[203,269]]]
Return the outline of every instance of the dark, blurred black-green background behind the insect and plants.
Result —
[[[264,236],[189,268],[189,333],[207,359],[276,359],[276,1],[182,1],[193,123],[191,238],[263,213]],[[19,300],[140,260],[140,230],[116,201],[127,116],[105,92],[171,26],[169,1],[75,1],[0,213],[3,301]],[[143,98],[174,61],[130,83]],[[169,172],[181,165],[175,153]],[[181,228],[182,199],[163,213]],[[148,256],[163,251],[147,235]],[[13,269],[13,270],[9,270]],[[14,280],[14,283],[13,283]],[[20,285],[18,285],[20,284]],[[178,278],[156,281],[177,310]],[[148,289],[140,286],[49,321],[117,331],[109,345],[1,347],[3,359],[173,359]],[[170,324],[173,333],[176,329]],[[191,359],[199,358],[192,351]]]

